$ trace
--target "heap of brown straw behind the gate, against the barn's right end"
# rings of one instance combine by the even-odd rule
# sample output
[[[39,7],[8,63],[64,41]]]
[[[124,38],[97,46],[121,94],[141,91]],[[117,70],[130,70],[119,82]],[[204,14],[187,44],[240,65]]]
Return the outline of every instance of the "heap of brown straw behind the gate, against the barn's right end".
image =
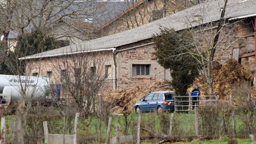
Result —
[[[213,64],[213,94],[218,94],[221,99],[227,100],[233,85],[247,81],[251,82],[253,79],[252,74],[245,69],[241,64],[236,62],[235,59],[227,60],[223,66],[218,62]],[[208,87],[205,76],[197,79],[193,85],[198,85],[201,94],[208,94]]]

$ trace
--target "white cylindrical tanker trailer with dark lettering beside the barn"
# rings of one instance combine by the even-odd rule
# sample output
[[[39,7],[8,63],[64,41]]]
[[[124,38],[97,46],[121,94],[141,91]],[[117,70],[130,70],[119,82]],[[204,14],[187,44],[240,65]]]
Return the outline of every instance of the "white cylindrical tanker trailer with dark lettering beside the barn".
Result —
[[[50,92],[49,78],[46,76],[0,75],[0,101],[12,104],[24,100],[21,88],[25,89],[27,100],[43,101]]]

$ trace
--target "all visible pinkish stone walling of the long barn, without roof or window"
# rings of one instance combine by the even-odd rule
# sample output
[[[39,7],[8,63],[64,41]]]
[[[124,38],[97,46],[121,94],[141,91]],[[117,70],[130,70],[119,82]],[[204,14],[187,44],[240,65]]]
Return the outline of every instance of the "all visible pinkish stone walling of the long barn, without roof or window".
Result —
[[[197,36],[197,39],[200,39],[200,37],[207,37],[205,40],[212,40],[214,30],[215,29],[209,29],[204,31],[203,35]],[[215,59],[217,59],[220,64],[223,64],[226,60],[232,58],[233,48],[240,48],[240,55],[254,52],[254,39],[253,37],[247,36],[247,34],[251,33],[251,31],[251,26],[245,25],[244,23],[234,23],[223,28],[219,37],[220,41],[217,44]],[[202,40],[202,38],[200,40]],[[129,88],[139,85],[151,85],[156,81],[165,81],[166,79],[171,79],[169,70],[164,69],[158,64],[158,62],[156,62],[156,60],[153,59],[155,49],[154,44],[151,42],[152,39],[148,39],[117,47],[117,50],[123,50],[118,52],[116,55],[117,87]],[[127,48],[135,46],[135,49],[127,50]],[[107,57],[109,61],[107,65],[111,65],[111,69],[113,69],[112,52],[106,52],[104,56]],[[95,55],[95,57],[102,58],[103,53],[98,53],[98,55]],[[47,71],[52,71],[52,78],[59,79],[59,71],[55,72],[54,70],[56,63],[59,60],[60,58],[57,57],[44,58],[40,60],[28,60],[27,71],[30,71],[30,75],[33,72],[39,72],[40,75],[47,75]],[[255,71],[254,55],[242,58],[241,63],[251,72]],[[133,71],[133,65],[150,65],[149,75],[134,75],[135,71]],[[113,71],[106,82],[106,89],[112,89]],[[53,81],[53,83],[57,84],[57,81]]]

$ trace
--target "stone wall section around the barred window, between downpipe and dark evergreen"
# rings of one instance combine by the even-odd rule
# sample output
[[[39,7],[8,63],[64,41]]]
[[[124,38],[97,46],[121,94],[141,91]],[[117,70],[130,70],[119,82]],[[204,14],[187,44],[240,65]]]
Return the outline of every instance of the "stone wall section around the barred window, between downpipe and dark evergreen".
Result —
[[[117,54],[118,57],[118,78],[120,88],[151,85],[156,81],[170,79],[169,71],[164,69],[154,60],[154,44],[126,50]],[[135,75],[133,65],[150,65],[149,75]]]

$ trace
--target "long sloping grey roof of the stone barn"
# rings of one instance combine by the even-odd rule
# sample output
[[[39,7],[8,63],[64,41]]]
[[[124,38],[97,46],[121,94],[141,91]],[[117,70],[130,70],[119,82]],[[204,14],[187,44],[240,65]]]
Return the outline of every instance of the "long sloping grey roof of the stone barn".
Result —
[[[255,0],[229,0],[226,9],[225,19],[240,17],[243,15],[256,14]],[[22,59],[33,59],[35,57],[49,57],[51,55],[66,55],[66,53],[106,49],[111,47],[119,47],[125,44],[135,43],[136,41],[146,40],[152,38],[153,34],[159,33],[159,27],[174,28],[176,31],[184,30],[188,27],[195,27],[199,25],[198,22],[193,22],[193,15],[201,15],[203,23],[210,23],[220,19],[220,12],[223,7],[223,0],[215,0],[204,2],[200,5],[184,9],[168,17],[161,18],[133,28],[132,30],[123,31],[121,33],[112,34],[110,36],[100,37],[85,41],[71,46],[61,47],[59,49],[49,50],[47,52],[38,53],[23,57]]]

